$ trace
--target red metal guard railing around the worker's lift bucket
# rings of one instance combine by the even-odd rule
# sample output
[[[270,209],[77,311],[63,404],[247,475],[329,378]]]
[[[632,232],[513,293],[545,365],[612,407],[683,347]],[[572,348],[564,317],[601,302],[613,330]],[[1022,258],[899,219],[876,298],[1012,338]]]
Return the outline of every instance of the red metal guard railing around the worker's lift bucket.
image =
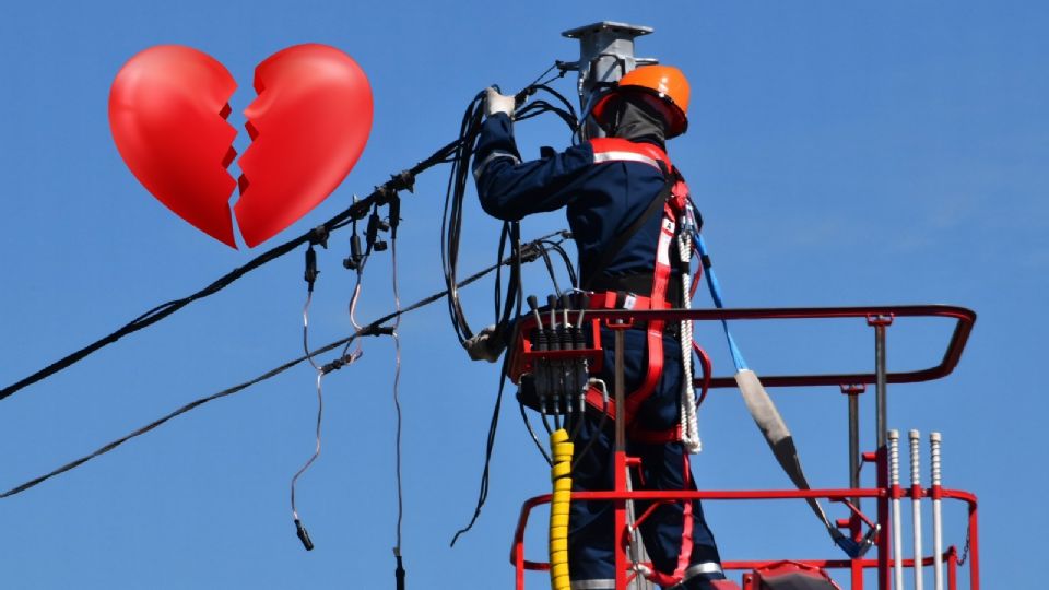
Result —
[[[867,326],[875,327],[877,346],[881,349],[881,358],[875,364],[874,373],[860,374],[821,374],[821,375],[775,375],[763,376],[762,382],[768,387],[802,387],[802,386],[836,386],[842,391],[853,386],[863,386],[867,384],[879,385],[879,405],[880,413],[884,414],[884,398],[886,384],[910,384],[919,381],[930,381],[940,379],[950,375],[962,357],[962,352],[973,330],[976,321],[976,314],[969,309],[946,305],[911,305],[911,306],[876,306],[876,307],[805,307],[805,308],[766,308],[766,309],[703,309],[703,310],[683,310],[668,309],[659,311],[638,311],[638,310],[590,310],[587,312],[589,320],[602,320],[606,323],[616,323],[622,328],[624,323],[635,321],[650,321],[662,319],[665,321],[719,321],[719,320],[766,320],[766,319],[840,319],[840,318],[864,318]],[[884,366],[884,330],[891,326],[894,318],[945,318],[955,320],[954,331],[947,342],[946,350],[941,362],[928,368],[889,373]],[[519,337],[520,338],[520,334]],[[558,354],[563,354],[558,353]],[[588,352],[588,354],[592,351]],[[877,355],[875,355],[877,356]],[[698,384],[697,384],[698,385]],[[711,387],[735,387],[733,377],[715,377],[711,380]],[[850,406],[850,412],[852,412]],[[616,489],[609,492],[574,492],[573,500],[609,500],[613,502],[617,512],[625,511],[625,503],[628,500],[767,500],[767,499],[789,499],[789,498],[823,498],[832,502],[848,502],[858,498],[874,498],[877,504],[879,524],[881,532],[876,540],[877,557],[874,559],[808,559],[801,560],[806,565],[824,567],[828,569],[850,569],[852,574],[852,590],[863,588],[864,570],[875,569],[879,573],[879,590],[889,589],[889,568],[895,564],[889,554],[891,523],[888,521],[888,506],[893,497],[907,498],[942,498],[964,502],[968,505],[968,566],[969,566],[969,588],[979,590],[979,534],[977,528],[977,500],[976,496],[962,491],[945,489],[933,486],[928,489],[918,489],[915,493],[903,493],[899,486],[888,485],[888,463],[886,456],[886,446],[884,444],[885,426],[882,423],[883,415],[880,415],[880,448],[872,453],[864,453],[865,462],[874,464],[877,486],[874,488],[860,487],[858,485],[858,475],[853,481],[853,486],[840,489],[810,489],[810,491],[702,491],[702,492],[656,492],[656,491],[635,491],[627,492],[623,483],[623,477],[615,477]],[[850,433],[851,435],[851,433]],[[618,455],[618,453],[617,453]],[[615,464],[626,464],[626,457],[616,457]],[[524,558],[524,529],[528,523],[528,517],[531,509],[538,505],[550,502],[549,495],[537,496],[524,503],[521,516],[518,521],[517,530],[514,535],[514,545],[510,552],[510,562],[516,568],[516,587],[519,590],[524,588],[526,570],[545,570],[549,564],[545,562],[533,562]],[[617,522],[622,519],[617,518]],[[860,520],[853,515],[848,521],[839,522],[839,526],[848,529],[853,536],[859,535]],[[618,563],[625,563],[625,550],[617,546],[616,551]],[[957,550],[948,546],[942,555],[946,569],[946,581],[950,590],[957,589],[957,569],[959,559]],[[931,565],[932,557],[922,557],[920,565]],[[726,562],[722,564],[726,570],[749,570],[768,566],[779,562],[773,560],[746,560],[746,562]],[[903,559],[903,567],[914,568],[915,559]],[[617,579],[623,580],[622,576]],[[744,577],[744,583],[747,578]]]

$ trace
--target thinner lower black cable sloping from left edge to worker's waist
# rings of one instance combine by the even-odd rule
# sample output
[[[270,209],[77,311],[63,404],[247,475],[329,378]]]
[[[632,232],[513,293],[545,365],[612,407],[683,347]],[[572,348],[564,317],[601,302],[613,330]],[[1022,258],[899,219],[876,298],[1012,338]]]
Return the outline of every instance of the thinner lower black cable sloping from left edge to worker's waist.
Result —
[[[535,240],[529,243],[529,244],[527,245],[527,247],[539,248],[539,247],[541,247],[541,244],[542,244],[544,240],[546,240],[546,239],[549,239],[549,238],[551,238],[551,237],[553,237],[553,236],[556,236],[556,235],[558,235],[558,234],[562,234],[562,235],[563,235],[563,232],[555,232],[555,233],[549,234],[549,235],[546,235],[546,236],[543,236],[543,237],[541,237],[541,238],[539,238],[539,239],[535,239]],[[529,248],[530,251],[531,251],[531,248]],[[535,255],[535,257],[538,257],[538,253]],[[535,260],[535,258],[533,258],[533,257],[528,257],[528,258],[524,258],[524,259],[523,259],[523,261],[526,261],[526,262],[531,262],[532,260]],[[478,271],[476,273],[474,273],[474,274],[470,275],[469,278],[462,280],[457,286],[459,286],[459,287],[464,287],[464,286],[467,286],[467,285],[469,285],[469,284],[471,284],[471,283],[474,283],[474,282],[481,280],[483,276],[485,276],[485,275],[487,275],[488,273],[491,273],[492,271],[496,270],[498,267],[500,267],[500,266],[503,266],[503,264],[510,264],[510,263],[512,263],[512,260],[509,260],[509,259],[508,259],[508,260],[499,261],[498,263],[493,264],[493,266],[491,266],[491,267],[488,267],[488,268],[486,268],[486,269],[483,269],[483,270],[481,270],[481,271]],[[8,489],[7,492],[0,494],[0,499],[8,498],[8,497],[14,496],[14,495],[16,495],[16,494],[21,494],[22,492],[25,492],[26,489],[30,489],[30,488],[32,488],[32,487],[35,487],[35,486],[37,486],[37,485],[46,482],[47,480],[50,480],[51,477],[55,477],[55,476],[57,476],[57,475],[61,475],[62,473],[66,473],[67,471],[73,470],[73,469],[75,469],[75,468],[78,468],[78,467],[86,463],[87,461],[90,461],[90,460],[92,460],[92,459],[94,459],[94,458],[96,458],[96,457],[99,457],[99,456],[102,456],[102,455],[105,455],[105,453],[107,453],[107,452],[116,449],[117,447],[119,447],[120,445],[127,442],[128,440],[131,440],[132,438],[137,438],[137,437],[139,437],[139,436],[144,435],[145,433],[149,433],[150,430],[152,430],[152,429],[154,429],[154,428],[163,425],[164,423],[170,421],[172,418],[178,417],[178,416],[180,416],[180,415],[189,412],[190,410],[193,410],[193,409],[196,409],[196,408],[199,408],[199,406],[201,406],[201,405],[203,405],[203,404],[205,404],[205,403],[208,403],[208,402],[211,402],[211,401],[214,401],[214,400],[217,400],[217,399],[221,399],[221,398],[225,398],[225,397],[232,396],[232,394],[237,393],[237,392],[239,392],[239,391],[243,391],[243,390],[245,390],[245,389],[247,389],[247,388],[249,388],[249,387],[251,387],[251,386],[254,386],[254,385],[256,385],[256,384],[260,384],[260,382],[262,382],[262,381],[266,381],[267,379],[271,379],[271,378],[273,378],[273,377],[275,377],[275,376],[284,373],[285,370],[287,370],[287,369],[290,369],[290,368],[298,365],[299,363],[303,363],[304,361],[310,359],[311,357],[314,357],[314,356],[316,356],[316,355],[318,355],[318,354],[323,354],[323,353],[326,353],[326,352],[333,351],[333,350],[338,349],[339,346],[343,346],[343,345],[345,345],[345,344],[349,344],[350,342],[353,342],[356,338],[358,338],[358,337],[361,337],[361,335],[376,333],[376,331],[377,331],[384,323],[386,323],[387,321],[389,321],[389,320],[391,320],[391,319],[399,318],[400,316],[403,316],[404,314],[414,311],[414,310],[416,310],[416,309],[419,309],[419,308],[421,308],[421,307],[425,307],[425,306],[427,306],[427,305],[429,305],[429,304],[432,304],[432,303],[434,303],[434,302],[436,302],[436,300],[438,300],[438,299],[440,299],[440,298],[443,298],[443,297],[445,297],[445,296],[447,296],[447,295],[448,295],[447,290],[446,290],[446,291],[438,292],[438,293],[434,293],[433,295],[431,295],[431,296],[428,296],[428,297],[425,297],[425,298],[423,298],[423,299],[420,299],[420,300],[415,302],[414,304],[405,307],[404,309],[401,309],[400,311],[393,311],[392,314],[388,314],[388,315],[386,315],[386,316],[384,316],[384,317],[381,317],[381,318],[373,321],[372,323],[365,326],[365,327],[362,328],[361,330],[357,330],[356,332],[354,332],[352,335],[349,335],[349,337],[346,337],[346,338],[343,338],[343,339],[337,340],[337,341],[334,341],[334,342],[331,342],[331,343],[329,343],[329,344],[326,344],[326,345],[323,345],[323,346],[321,346],[321,347],[319,347],[319,349],[314,350],[311,353],[308,353],[308,354],[305,354],[305,355],[303,355],[303,356],[299,356],[298,358],[293,358],[292,361],[288,361],[288,362],[284,363],[283,365],[280,365],[280,366],[278,366],[278,367],[274,367],[274,368],[272,368],[272,369],[263,373],[262,375],[259,375],[258,377],[256,377],[256,378],[254,378],[254,379],[251,379],[251,380],[249,380],[249,381],[245,381],[245,382],[243,382],[243,384],[235,385],[235,386],[233,386],[233,387],[223,389],[222,391],[219,391],[219,392],[216,392],[216,393],[212,393],[211,396],[207,396],[207,397],[203,397],[203,398],[193,400],[193,401],[187,403],[186,405],[182,405],[182,406],[179,408],[178,410],[175,410],[174,412],[169,412],[169,413],[165,414],[164,416],[162,416],[162,417],[160,417],[160,418],[157,418],[157,420],[154,420],[153,422],[146,424],[145,426],[142,426],[142,427],[140,427],[140,428],[137,428],[137,429],[132,430],[131,433],[129,433],[129,434],[127,434],[127,435],[125,435],[125,436],[122,436],[122,437],[120,437],[120,438],[118,438],[118,439],[116,439],[116,440],[114,440],[114,441],[111,441],[111,442],[108,442],[108,444],[99,447],[99,448],[96,449],[94,452],[91,452],[91,453],[89,453],[89,455],[85,455],[85,456],[83,456],[83,457],[81,457],[81,458],[79,458],[79,459],[76,459],[76,460],[74,460],[74,461],[70,461],[69,463],[66,463],[64,465],[62,465],[62,467],[60,467],[60,468],[58,468],[58,469],[55,469],[55,470],[52,470],[52,471],[50,471],[50,472],[48,472],[48,473],[46,473],[46,474],[44,474],[44,475],[40,475],[40,476],[38,476],[38,477],[34,477],[34,479],[32,479],[32,480],[30,480],[30,481],[27,481],[27,482],[25,482],[25,483],[23,483],[23,484],[20,484],[20,485],[15,486],[15,487],[12,487],[11,489]],[[341,359],[340,359],[340,361],[341,361]],[[331,365],[331,364],[329,364],[329,365]],[[325,365],[325,367],[328,367],[329,365]],[[340,365],[340,366],[341,366],[341,365]],[[325,368],[325,367],[321,367],[321,368]],[[338,368],[338,367],[337,367],[337,368]],[[333,370],[333,369],[331,369],[331,370]]]

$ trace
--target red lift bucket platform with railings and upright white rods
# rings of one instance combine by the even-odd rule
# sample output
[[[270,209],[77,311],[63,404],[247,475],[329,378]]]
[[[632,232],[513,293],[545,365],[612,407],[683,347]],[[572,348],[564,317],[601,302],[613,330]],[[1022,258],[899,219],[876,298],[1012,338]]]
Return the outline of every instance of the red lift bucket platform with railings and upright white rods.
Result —
[[[834,521],[838,529],[857,543],[863,543],[867,540],[871,544],[871,551],[867,555],[859,555],[854,558],[841,558],[841,553],[837,550],[832,556],[814,556],[806,559],[794,559],[785,562],[775,557],[756,560],[727,560],[722,564],[726,576],[733,582],[741,583],[742,590],[762,590],[765,588],[776,588],[775,585],[768,585],[763,581],[763,573],[774,573],[779,568],[788,569],[794,567],[798,570],[826,571],[836,578],[837,583],[842,585],[849,580],[851,590],[863,590],[873,588],[876,590],[903,590],[904,588],[929,588],[930,590],[958,590],[967,588],[969,590],[979,590],[979,531],[977,522],[977,497],[975,494],[963,491],[943,487],[940,481],[940,447],[939,433],[933,433],[930,437],[932,445],[931,468],[932,477],[929,485],[920,484],[919,475],[919,435],[917,430],[910,433],[911,451],[911,484],[904,486],[899,482],[899,434],[896,430],[889,430],[886,424],[887,408],[887,386],[897,384],[918,384],[931,381],[948,376],[958,364],[962,352],[971,332],[973,324],[976,321],[976,314],[964,307],[945,305],[909,305],[909,306],[869,306],[869,307],[806,307],[806,308],[763,308],[763,309],[703,309],[684,310],[668,309],[659,311],[637,311],[637,310],[592,310],[588,312],[588,319],[592,322],[601,322],[608,328],[626,328],[634,322],[644,322],[651,320],[665,321],[721,321],[721,320],[825,320],[837,322],[851,322],[857,329],[869,330],[873,332],[873,356],[874,370],[871,373],[829,373],[813,375],[774,375],[762,377],[762,382],[767,387],[827,387],[837,388],[841,393],[849,397],[849,477],[846,486],[839,488],[813,488],[813,489],[726,489],[726,491],[696,491],[696,492],[664,492],[664,491],[628,491],[626,486],[626,465],[630,460],[623,450],[624,446],[617,444],[615,451],[615,488],[605,492],[574,492],[571,500],[608,500],[614,504],[616,514],[617,536],[623,542],[616,544],[616,590],[656,588],[645,580],[638,573],[646,564],[633,563],[630,553],[627,550],[626,539],[629,528],[625,524],[628,519],[629,504],[634,500],[664,500],[680,502],[686,499],[702,499],[705,503],[722,502],[769,502],[769,500],[804,500],[806,498],[817,498],[827,500],[832,505],[844,507],[845,517]],[[889,373],[886,369],[886,332],[892,329],[895,321],[903,318],[939,318],[954,323],[953,332],[946,343],[940,363],[927,368]],[[597,326],[597,323],[594,323]],[[521,331],[527,327],[519,327],[517,339],[521,339]],[[616,331],[622,333],[622,330]],[[622,338],[615,338],[615,346],[620,349],[623,343]],[[520,342],[520,340],[518,340]],[[612,345],[611,343],[606,343]],[[527,346],[524,346],[527,351]],[[586,354],[593,355],[593,351],[582,351]],[[622,358],[622,351],[617,350],[617,356]],[[562,361],[565,357],[565,351],[556,351],[552,358]],[[543,353],[526,353],[518,363],[528,362],[528,359],[541,358]],[[523,361],[522,361],[523,358]],[[518,367],[518,370],[527,367]],[[697,379],[696,386],[702,384]],[[715,376],[710,379],[711,388],[734,388],[736,381],[731,376]],[[875,412],[874,425],[876,430],[876,448],[863,452],[859,445],[860,433],[860,413],[859,394],[868,386],[875,389]],[[617,392],[622,396],[622,392]],[[622,402],[618,399],[617,402]],[[617,404],[622,408],[622,403]],[[622,425],[616,425],[616,433],[622,436]],[[617,436],[617,438],[618,438]],[[618,440],[617,442],[622,442]],[[873,471],[873,487],[860,485],[861,472]],[[529,518],[537,507],[549,504],[551,495],[540,495],[529,498],[524,502],[518,519],[517,529],[514,532],[512,544],[510,548],[510,564],[515,568],[515,588],[523,590],[526,588],[527,571],[543,571],[550,569],[550,563],[544,559],[529,558],[526,553],[524,536],[529,526]],[[865,500],[865,502],[864,502]],[[957,547],[955,545],[942,546],[941,542],[941,503],[948,502],[963,505],[967,519],[964,523],[955,522],[956,526],[965,526],[968,531],[966,545]],[[903,556],[901,533],[899,524],[899,514],[907,504],[911,507],[915,515],[912,523],[915,543],[917,550],[915,555]],[[864,514],[860,508],[872,507],[870,514]],[[932,506],[932,530],[933,541],[932,551],[926,551],[927,543],[921,541],[920,517],[922,507]],[[639,517],[645,518],[645,515]],[[815,529],[814,529],[815,530]],[[541,550],[535,548],[537,553]],[[788,564],[785,566],[785,564]],[[791,565],[792,564],[792,565]],[[647,564],[648,567],[651,564]],[[967,569],[967,576],[963,578],[963,567]],[[876,581],[868,585],[864,581],[864,574],[876,573]],[[874,576],[871,575],[871,578]],[[906,579],[905,579],[906,577]],[[537,580],[538,581],[538,580]],[[965,582],[964,586],[959,586]],[[540,585],[535,585],[540,587]],[[729,587],[734,587],[734,583]],[[787,586],[783,586],[787,587]],[[826,586],[825,586],[826,587]],[[792,586],[790,588],[793,588]]]

